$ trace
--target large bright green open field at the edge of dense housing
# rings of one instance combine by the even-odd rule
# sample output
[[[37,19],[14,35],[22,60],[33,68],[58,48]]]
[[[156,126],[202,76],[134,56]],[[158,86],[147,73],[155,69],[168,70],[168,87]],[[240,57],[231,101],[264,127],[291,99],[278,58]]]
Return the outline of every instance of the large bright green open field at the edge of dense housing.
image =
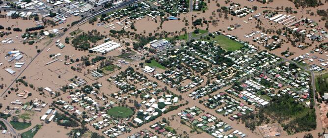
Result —
[[[226,51],[236,51],[243,47],[243,44],[241,44],[235,40],[231,40],[228,37],[225,37],[224,35],[218,35],[218,36],[215,36],[215,38],[211,37],[210,40],[216,41],[216,43],[219,44],[220,47],[225,49]],[[205,40],[205,41],[208,41],[208,40]]]

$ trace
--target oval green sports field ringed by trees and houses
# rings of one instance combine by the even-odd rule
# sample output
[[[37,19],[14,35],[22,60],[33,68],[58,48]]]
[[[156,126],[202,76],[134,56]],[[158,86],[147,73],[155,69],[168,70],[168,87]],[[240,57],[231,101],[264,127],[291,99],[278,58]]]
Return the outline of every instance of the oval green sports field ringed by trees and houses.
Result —
[[[113,117],[127,118],[133,114],[133,110],[126,107],[113,107],[107,113]]]

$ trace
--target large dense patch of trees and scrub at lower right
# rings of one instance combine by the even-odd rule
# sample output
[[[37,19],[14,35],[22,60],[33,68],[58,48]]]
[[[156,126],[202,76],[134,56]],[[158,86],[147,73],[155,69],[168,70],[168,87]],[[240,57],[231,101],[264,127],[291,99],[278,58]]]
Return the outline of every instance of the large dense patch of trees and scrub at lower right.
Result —
[[[308,108],[288,94],[273,97],[270,105],[261,108],[257,113],[247,113],[241,119],[251,130],[261,124],[278,122],[288,134],[311,131],[317,126],[313,99]]]

